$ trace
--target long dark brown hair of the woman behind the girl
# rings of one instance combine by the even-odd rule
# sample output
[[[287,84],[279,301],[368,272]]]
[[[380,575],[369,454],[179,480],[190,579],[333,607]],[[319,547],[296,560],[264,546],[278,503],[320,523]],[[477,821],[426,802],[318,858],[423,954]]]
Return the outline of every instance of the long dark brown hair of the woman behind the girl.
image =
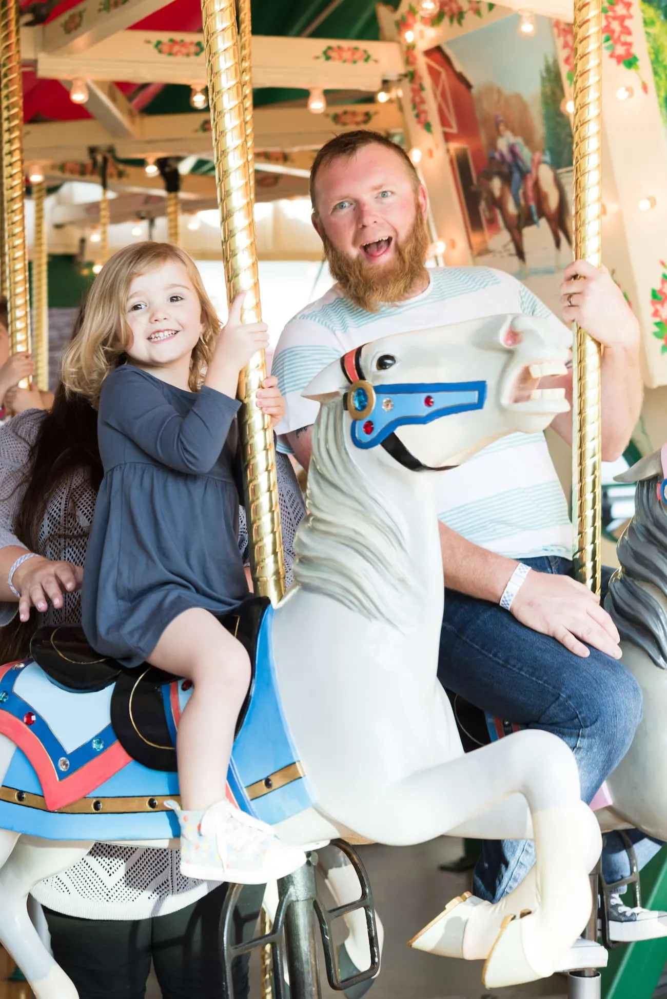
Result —
[[[74,323],[72,339],[81,327],[85,304],[84,299]],[[38,550],[39,533],[53,496],[62,483],[76,472],[83,472],[97,493],[103,476],[97,446],[97,412],[83,396],[67,394],[59,382],[53,406],[42,420],[20,483],[25,492],[14,518],[14,532],[29,551]],[[75,500],[70,497],[69,501],[73,503]],[[10,624],[0,627],[2,662],[12,662],[28,655],[30,638],[35,630],[34,618],[33,608],[30,620],[21,622],[16,616]]]

